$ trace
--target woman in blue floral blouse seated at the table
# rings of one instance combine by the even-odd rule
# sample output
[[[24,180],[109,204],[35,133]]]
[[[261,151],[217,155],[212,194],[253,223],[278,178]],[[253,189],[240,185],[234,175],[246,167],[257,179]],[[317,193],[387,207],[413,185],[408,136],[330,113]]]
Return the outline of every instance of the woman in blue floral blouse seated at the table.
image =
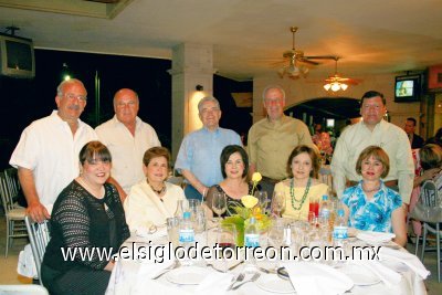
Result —
[[[380,180],[389,170],[390,160],[382,148],[365,148],[356,162],[356,172],[362,180],[347,188],[341,201],[349,226],[364,231],[393,232],[393,241],[403,246],[407,243],[407,229],[402,199]]]

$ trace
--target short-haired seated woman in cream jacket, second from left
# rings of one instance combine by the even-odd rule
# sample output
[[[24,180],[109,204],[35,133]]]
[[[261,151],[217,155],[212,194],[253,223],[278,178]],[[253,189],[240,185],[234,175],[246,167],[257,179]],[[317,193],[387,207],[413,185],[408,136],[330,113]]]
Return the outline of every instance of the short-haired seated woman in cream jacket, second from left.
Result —
[[[130,231],[144,232],[152,224],[166,224],[166,219],[173,217],[178,200],[186,200],[180,187],[166,182],[170,170],[169,161],[167,148],[152,147],[146,150],[143,157],[146,180],[131,187],[124,202]]]

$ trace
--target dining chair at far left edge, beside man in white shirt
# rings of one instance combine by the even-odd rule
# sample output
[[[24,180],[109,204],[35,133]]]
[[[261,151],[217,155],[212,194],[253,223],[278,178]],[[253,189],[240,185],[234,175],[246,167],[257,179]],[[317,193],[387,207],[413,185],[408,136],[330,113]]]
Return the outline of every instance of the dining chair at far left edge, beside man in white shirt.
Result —
[[[7,242],[4,256],[8,257],[9,247],[12,246],[13,239],[28,236],[24,224],[25,209],[18,206],[14,201],[13,183],[8,180],[7,172],[0,172],[0,194],[7,221]]]

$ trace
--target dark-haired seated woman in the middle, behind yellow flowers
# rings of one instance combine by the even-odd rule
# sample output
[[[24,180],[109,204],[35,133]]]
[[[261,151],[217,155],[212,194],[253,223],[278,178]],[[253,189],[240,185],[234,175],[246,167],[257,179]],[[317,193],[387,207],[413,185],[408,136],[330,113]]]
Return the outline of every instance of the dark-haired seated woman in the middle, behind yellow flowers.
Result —
[[[252,185],[248,182],[249,156],[241,146],[231,145],[221,151],[221,172],[224,177],[219,185],[210,187],[206,197],[206,206],[210,209],[207,214],[211,218],[214,193],[225,193],[227,211],[223,217],[235,214],[234,207],[243,207],[241,198],[250,194]]]

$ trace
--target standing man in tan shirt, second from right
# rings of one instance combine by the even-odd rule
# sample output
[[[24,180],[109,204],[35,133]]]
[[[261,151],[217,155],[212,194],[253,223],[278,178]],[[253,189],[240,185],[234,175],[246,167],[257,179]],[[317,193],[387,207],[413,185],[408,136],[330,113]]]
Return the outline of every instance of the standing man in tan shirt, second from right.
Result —
[[[272,198],[275,183],[287,178],[286,162],[298,145],[314,147],[308,127],[298,119],[285,116],[285,92],[271,85],[263,92],[267,117],[253,124],[249,130],[250,172],[259,171],[261,187]]]

